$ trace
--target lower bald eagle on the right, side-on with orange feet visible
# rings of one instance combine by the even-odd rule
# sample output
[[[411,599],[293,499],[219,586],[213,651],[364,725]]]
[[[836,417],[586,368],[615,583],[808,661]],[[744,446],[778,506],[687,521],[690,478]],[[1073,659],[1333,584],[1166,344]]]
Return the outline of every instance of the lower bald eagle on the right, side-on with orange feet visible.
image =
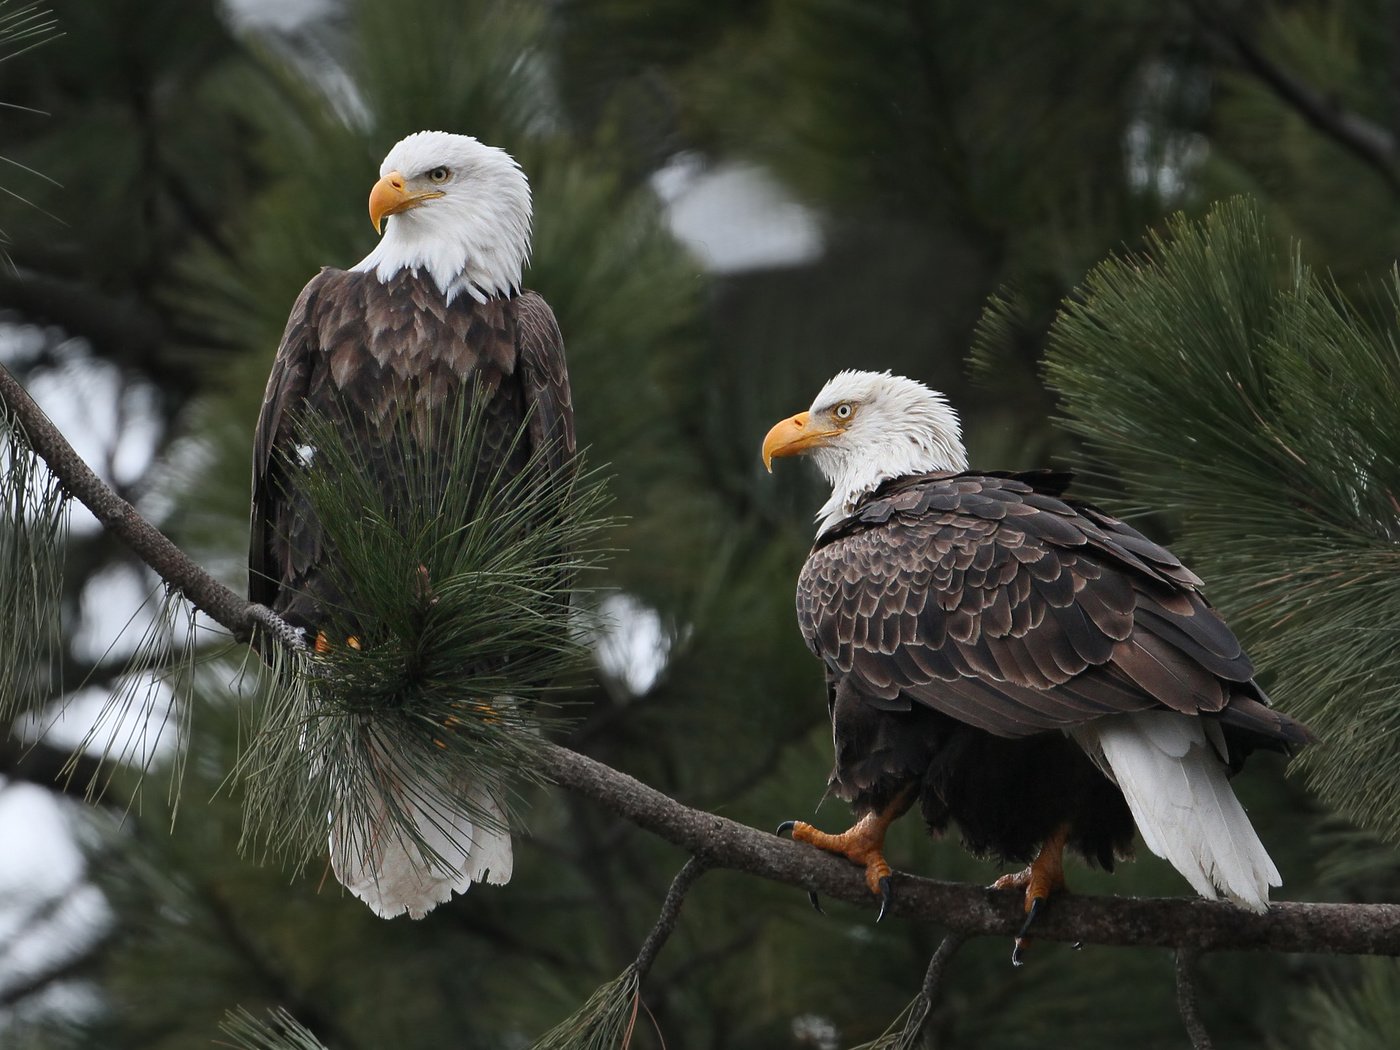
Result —
[[[1278,869],[1226,778],[1310,735],[1270,710],[1189,568],[1067,498],[1067,475],[967,472],[956,413],[913,379],[839,374],[763,441],[769,469],[801,454],[833,489],[798,623],[860,820],[795,839],[865,865],[883,911],[885,829],[918,802],[930,829],[1029,864],[998,883],[1033,916],[1067,846],[1112,869],[1135,823],[1201,896],[1267,907]]]

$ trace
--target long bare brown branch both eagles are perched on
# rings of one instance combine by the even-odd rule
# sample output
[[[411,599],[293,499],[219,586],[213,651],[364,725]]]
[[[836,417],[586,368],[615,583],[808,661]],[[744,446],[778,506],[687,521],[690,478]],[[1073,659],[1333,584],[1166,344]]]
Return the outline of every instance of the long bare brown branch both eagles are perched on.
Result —
[[[24,389],[0,368],[0,400],[25,427],[67,491],[171,587],[211,619],[246,637],[266,609],[239,598],[189,560],[118,497],[77,456]],[[542,743],[540,773],[613,813],[675,843],[707,867],[729,868],[861,904],[874,914],[862,874],[836,857],[678,802],[655,788],[556,743]],[[893,914],[973,935],[1012,935],[1022,895],[897,875]],[[1037,921],[1036,938],[1117,946],[1210,951],[1400,955],[1400,904],[1274,904],[1254,914],[1226,903],[1187,899],[1065,896]]]

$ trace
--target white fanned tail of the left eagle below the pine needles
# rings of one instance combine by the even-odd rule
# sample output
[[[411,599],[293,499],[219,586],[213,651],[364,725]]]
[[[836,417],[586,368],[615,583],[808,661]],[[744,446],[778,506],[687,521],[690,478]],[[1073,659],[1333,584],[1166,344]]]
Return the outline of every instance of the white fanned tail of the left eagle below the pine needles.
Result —
[[[473,882],[510,882],[511,836],[489,787],[433,783],[402,763],[379,771],[388,783],[374,787],[372,804],[330,825],[332,871],[377,916],[423,918]]]

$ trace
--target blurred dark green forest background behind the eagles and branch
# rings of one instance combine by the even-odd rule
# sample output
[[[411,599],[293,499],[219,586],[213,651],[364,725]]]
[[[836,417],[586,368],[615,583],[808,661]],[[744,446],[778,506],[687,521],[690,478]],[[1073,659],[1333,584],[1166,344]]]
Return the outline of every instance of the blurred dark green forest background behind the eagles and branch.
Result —
[[[535,188],[526,281],[559,315],[580,440],[623,518],[595,581],[612,627],[566,742],[760,827],[846,820],[816,809],[830,738],[792,613],[823,494],[802,468],[763,473],[773,421],[840,368],[892,368],[948,392],[976,465],[1072,465],[1046,332],[1089,267],[1169,213],[1250,195],[1359,302],[1396,253],[1389,0],[52,7],[62,36],[0,45],[0,363],[242,589],[251,433],[298,290],[370,251],[365,197],[403,134],[504,147]],[[1016,325],[972,368],[1007,290]],[[337,1050],[525,1047],[631,960],[683,855],[563,792],[533,799],[508,888],[420,923],[242,858],[224,787],[239,662],[202,630],[195,682],[129,666],[171,629],[158,591],[73,512],[56,678],[0,745],[0,1043],[207,1046],[225,1009],[284,1005]],[[118,750],[155,769],[134,799],[119,778],[88,805],[101,741],[55,774],[113,703],[137,724],[118,720]],[[1281,896],[1396,899],[1393,850],[1281,762],[1259,756],[1238,787]],[[889,853],[934,878],[1000,874],[914,818]],[[1070,879],[1189,892],[1149,855]],[[643,988],[665,1046],[834,1050],[883,1030],[939,931],[827,913],[707,875]],[[1169,953],[1008,956],[991,939],[958,956],[938,1046],[1184,1044]],[[1203,970],[1221,1047],[1393,1046],[1375,1021],[1397,1009],[1390,962],[1222,953]],[[655,1029],[634,1046],[662,1046]]]

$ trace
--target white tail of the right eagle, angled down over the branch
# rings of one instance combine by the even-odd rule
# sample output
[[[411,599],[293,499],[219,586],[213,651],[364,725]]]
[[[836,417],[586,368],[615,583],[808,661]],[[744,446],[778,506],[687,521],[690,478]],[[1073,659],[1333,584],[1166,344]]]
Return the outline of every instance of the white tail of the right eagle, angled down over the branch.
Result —
[[[1100,767],[1121,788],[1147,847],[1197,893],[1267,910],[1268,888],[1282,881],[1231,790],[1218,727],[1176,711],[1138,711],[1075,736],[1103,756]]]

